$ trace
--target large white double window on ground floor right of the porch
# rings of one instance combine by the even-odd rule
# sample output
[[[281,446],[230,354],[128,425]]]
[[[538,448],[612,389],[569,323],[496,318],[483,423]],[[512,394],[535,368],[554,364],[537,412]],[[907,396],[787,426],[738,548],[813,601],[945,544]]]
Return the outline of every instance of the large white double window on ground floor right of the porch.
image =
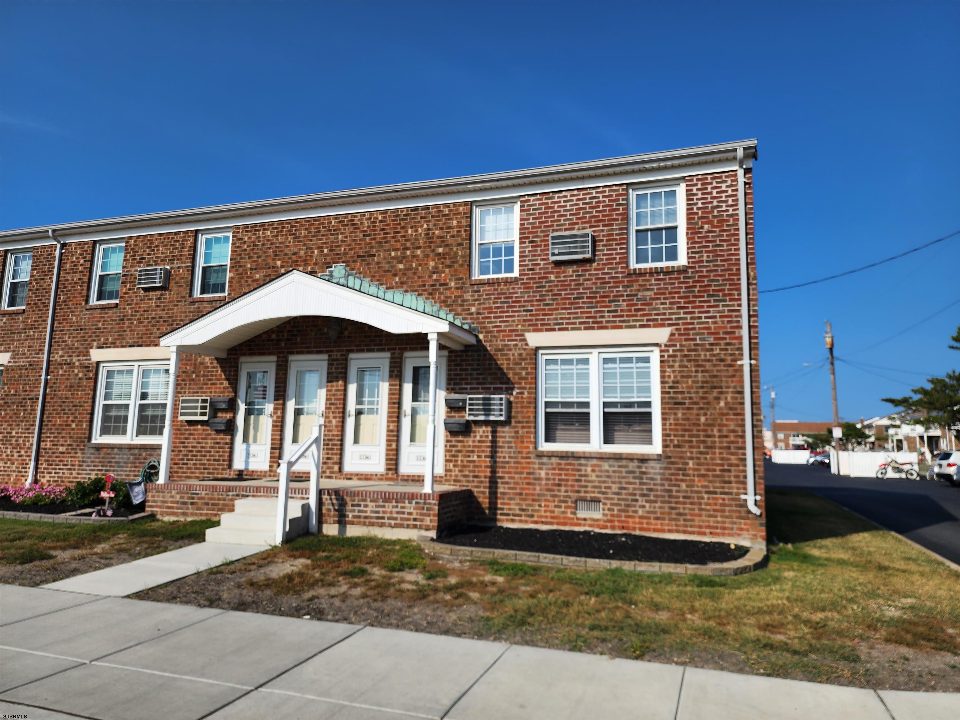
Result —
[[[542,449],[661,449],[656,348],[541,350],[537,444]]]

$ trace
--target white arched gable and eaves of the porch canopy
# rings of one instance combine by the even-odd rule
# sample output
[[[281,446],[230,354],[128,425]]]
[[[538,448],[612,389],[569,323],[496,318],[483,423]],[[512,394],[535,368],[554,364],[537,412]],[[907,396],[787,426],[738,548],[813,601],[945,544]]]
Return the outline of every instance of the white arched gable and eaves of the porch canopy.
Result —
[[[294,270],[167,333],[160,345],[223,357],[228,348],[298,316],[343,318],[394,335],[436,332],[455,349],[476,343],[455,324]]]

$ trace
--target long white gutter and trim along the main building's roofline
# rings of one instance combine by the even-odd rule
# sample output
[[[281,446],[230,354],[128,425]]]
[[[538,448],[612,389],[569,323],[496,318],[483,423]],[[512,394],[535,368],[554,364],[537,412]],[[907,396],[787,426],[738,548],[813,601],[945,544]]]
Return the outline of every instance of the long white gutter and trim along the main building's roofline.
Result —
[[[251,203],[212,205],[79,223],[3,230],[0,231],[0,249],[52,244],[49,230],[56,232],[65,242],[82,242],[158,232],[251,225],[348,212],[369,212],[395,207],[496,200],[568,188],[726,172],[736,169],[737,148],[744,149],[746,165],[750,167],[756,159],[756,139],[701,145],[660,153],[548,165],[504,173],[403,182],[395,185],[337,190]]]

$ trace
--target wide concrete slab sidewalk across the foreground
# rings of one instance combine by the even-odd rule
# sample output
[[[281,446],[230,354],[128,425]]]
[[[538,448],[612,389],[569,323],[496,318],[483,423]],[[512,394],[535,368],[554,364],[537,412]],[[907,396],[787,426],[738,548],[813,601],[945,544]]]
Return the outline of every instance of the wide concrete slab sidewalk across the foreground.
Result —
[[[954,720],[960,694],[875,692],[0,586],[0,713],[104,720]]]

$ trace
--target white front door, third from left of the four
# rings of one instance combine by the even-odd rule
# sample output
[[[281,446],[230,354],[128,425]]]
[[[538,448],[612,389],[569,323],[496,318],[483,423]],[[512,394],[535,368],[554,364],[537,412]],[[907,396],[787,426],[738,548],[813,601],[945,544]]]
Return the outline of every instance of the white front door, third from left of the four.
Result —
[[[344,423],[344,472],[383,472],[387,454],[390,356],[351,355]]]

